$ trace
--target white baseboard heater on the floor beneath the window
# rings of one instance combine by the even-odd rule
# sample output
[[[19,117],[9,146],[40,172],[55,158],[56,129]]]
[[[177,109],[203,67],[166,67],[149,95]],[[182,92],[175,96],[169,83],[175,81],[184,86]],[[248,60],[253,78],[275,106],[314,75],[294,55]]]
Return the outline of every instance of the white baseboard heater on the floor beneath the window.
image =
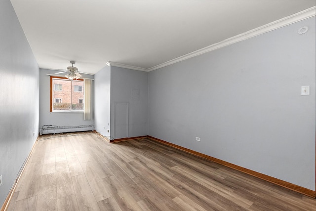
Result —
[[[79,131],[89,131],[94,130],[94,126],[53,126],[53,125],[44,125],[40,127],[40,135],[50,134],[50,133],[64,133],[64,132],[79,132]]]

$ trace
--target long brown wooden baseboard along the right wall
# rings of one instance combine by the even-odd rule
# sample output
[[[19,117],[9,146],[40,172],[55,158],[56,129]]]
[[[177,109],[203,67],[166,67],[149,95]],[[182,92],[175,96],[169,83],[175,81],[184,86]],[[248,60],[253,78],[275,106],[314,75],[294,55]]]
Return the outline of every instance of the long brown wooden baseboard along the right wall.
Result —
[[[152,139],[152,140],[155,140],[155,141],[158,141],[158,142],[160,142],[160,143],[163,143],[163,144],[165,144],[165,145],[171,146],[171,147],[173,147],[173,148],[176,148],[176,149],[185,151],[185,152],[187,152],[187,153],[196,155],[196,156],[198,156],[198,157],[201,157],[201,158],[204,158],[204,159],[213,161],[213,162],[215,162],[215,163],[221,164],[221,165],[226,166],[226,167],[229,167],[229,168],[231,168],[231,169],[236,169],[236,170],[241,171],[241,172],[243,172],[243,173],[246,173],[246,174],[255,176],[255,177],[257,177],[257,178],[266,180],[266,181],[268,181],[268,182],[271,182],[271,183],[276,184],[276,185],[278,185],[278,186],[287,188],[287,189],[289,189],[289,190],[292,190],[292,191],[295,191],[295,192],[304,194],[304,195],[309,196],[309,197],[312,197],[312,198],[316,198],[316,191],[313,191],[313,190],[310,190],[310,189],[307,189],[307,188],[304,188],[304,187],[301,187],[301,186],[292,184],[292,183],[290,183],[290,182],[286,182],[286,181],[277,179],[277,178],[272,177],[272,176],[268,176],[268,175],[263,174],[263,173],[259,173],[259,172],[254,171],[254,170],[250,170],[250,169],[246,169],[246,168],[243,168],[243,167],[239,167],[239,166],[237,166],[237,165],[235,165],[235,164],[231,164],[231,163],[229,163],[229,162],[226,162],[226,161],[223,161],[223,160],[220,160],[220,159],[217,159],[217,158],[213,158],[213,157],[211,157],[211,156],[208,156],[208,155],[205,155],[205,154],[196,152],[196,151],[194,151],[194,150],[187,149],[187,148],[181,147],[181,146],[176,145],[176,144],[173,144],[173,143],[169,143],[169,142],[167,142],[167,141],[164,141],[164,140],[155,138],[155,137],[153,137],[153,136],[148,136],[148,138],[150,138],[150,139]]]

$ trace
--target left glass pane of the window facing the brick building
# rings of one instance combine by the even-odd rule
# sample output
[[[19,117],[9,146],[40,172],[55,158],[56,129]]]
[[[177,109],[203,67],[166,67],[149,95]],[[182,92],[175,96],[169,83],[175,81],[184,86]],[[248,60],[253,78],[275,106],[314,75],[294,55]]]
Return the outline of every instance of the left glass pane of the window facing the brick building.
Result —
[[[53,111],[68,111],[71,108],[71,81],[53,79],[54,91],[52,93]],[[63,87],[63,88],[62,88]]]

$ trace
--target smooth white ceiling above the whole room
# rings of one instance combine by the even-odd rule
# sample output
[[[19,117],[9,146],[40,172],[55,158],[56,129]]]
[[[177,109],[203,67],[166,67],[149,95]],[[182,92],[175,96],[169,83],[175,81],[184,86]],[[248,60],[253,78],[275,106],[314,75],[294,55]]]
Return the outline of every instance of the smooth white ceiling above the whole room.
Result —
[[[316,5],[316,0],[11,0],[40,68],[149,69]]]

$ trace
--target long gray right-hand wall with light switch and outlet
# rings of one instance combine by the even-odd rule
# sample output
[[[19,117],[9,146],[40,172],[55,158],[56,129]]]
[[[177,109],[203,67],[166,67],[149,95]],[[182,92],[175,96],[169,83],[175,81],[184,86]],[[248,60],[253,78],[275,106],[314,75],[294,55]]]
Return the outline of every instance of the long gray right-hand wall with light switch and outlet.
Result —
[[[313,17],[150,72],[149,135],[315,190],[315,37]]]

